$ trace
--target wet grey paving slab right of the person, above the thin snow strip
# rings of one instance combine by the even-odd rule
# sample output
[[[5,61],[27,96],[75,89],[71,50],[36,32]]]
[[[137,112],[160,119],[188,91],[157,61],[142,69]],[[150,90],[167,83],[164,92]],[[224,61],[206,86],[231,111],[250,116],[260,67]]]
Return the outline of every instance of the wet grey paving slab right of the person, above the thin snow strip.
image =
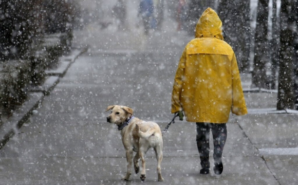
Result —
[[[238,123],[256,147],[296,147],[298,145],[295,114],[262,114],[237,117]],[[263,145],[263,146],[262,146]]]

